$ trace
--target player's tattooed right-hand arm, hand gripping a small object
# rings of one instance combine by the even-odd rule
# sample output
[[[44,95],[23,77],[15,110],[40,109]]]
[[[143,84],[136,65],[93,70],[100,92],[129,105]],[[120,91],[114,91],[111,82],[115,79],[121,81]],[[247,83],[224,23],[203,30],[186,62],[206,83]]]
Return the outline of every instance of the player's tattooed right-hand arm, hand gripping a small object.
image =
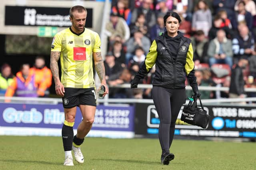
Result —
[[[93,52],[92,55],[94,58],[95,70],[100,78],[100,82],[106,88],[105,93],[103,94],[103,96],[105,96],[106,94],[108,94],[108,87],[106,85],[105,66],[101,57],[101,52]]]

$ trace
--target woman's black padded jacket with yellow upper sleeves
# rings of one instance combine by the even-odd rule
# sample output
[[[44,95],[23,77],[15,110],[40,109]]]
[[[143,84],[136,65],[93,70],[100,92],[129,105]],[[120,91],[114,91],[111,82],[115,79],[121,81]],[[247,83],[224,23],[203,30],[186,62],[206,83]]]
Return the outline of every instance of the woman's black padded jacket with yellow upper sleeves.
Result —
[[[171,89],[185,88],[187,76],[193,92],[198,91],[196,76],[194,75],[191,40],[184,37],[180,32],[174,38],[167,36],[167,32],[165,32],[153,41],[146,60],[135,78],[144,78],[150,68],[156,64],[153,86]]]

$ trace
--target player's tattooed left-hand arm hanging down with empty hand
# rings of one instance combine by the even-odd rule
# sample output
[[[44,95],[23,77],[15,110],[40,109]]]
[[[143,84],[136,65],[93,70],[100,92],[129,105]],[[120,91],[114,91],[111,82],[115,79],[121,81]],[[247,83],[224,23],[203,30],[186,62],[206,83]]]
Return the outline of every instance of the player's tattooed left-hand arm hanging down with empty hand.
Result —
[[[57,95],[64,96],[64,92],[65,92],[64,86],[60,82],[60,77],[59,77],[59,67],[58,67],[59,59],[60,59],[60,52],[51,51],[50,68],[51,68],[52,76],[55,82],[55,91]]]

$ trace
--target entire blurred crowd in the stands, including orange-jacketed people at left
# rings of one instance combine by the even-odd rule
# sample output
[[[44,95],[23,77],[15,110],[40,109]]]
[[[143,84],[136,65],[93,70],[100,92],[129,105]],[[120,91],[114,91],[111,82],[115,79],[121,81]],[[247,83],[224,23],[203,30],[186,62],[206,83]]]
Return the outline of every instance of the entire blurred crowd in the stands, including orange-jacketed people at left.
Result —
[[[199,86],[226,86],[228,92],[201,91],[201,98],[256,96],[256,0],[112,0],[106,24],[105,56],[108,85],[130,83],[144,62],[152,41],[165,31],[163,16],[177,12],[179,31],[192,40]],[[48,96],[52,74],[37,57],[32,68],[23,64],[16,76],[3,64],[0,95]],[[154,67],[140,81],[152,84]],[[231,83],[230,83],[231,82]],[[188,84],[188,81],[186,81]],[[190,96],[192,91],[187,91]],[[109,98],[152,98],[151,89],[110,88]]]

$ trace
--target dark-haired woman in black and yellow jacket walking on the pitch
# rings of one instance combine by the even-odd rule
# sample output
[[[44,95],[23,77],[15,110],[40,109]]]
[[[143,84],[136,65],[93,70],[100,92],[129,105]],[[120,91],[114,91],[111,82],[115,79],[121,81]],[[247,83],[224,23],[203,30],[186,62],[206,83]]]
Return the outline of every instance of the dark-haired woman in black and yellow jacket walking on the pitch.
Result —
[[[131,82],[131,88],[137,88],[139,80],[156,64],[152,94],[160,118],[158,134],[162,147],[161,162],[166,165],[174,159],[169,149],[178,113],[186,101],[185,74],[195,97],[200,96],[194,75],[191,40],[178,31],[180,21],[176,12],[166,13],[164,25],[167,31],[153,41],[145,62]]]

